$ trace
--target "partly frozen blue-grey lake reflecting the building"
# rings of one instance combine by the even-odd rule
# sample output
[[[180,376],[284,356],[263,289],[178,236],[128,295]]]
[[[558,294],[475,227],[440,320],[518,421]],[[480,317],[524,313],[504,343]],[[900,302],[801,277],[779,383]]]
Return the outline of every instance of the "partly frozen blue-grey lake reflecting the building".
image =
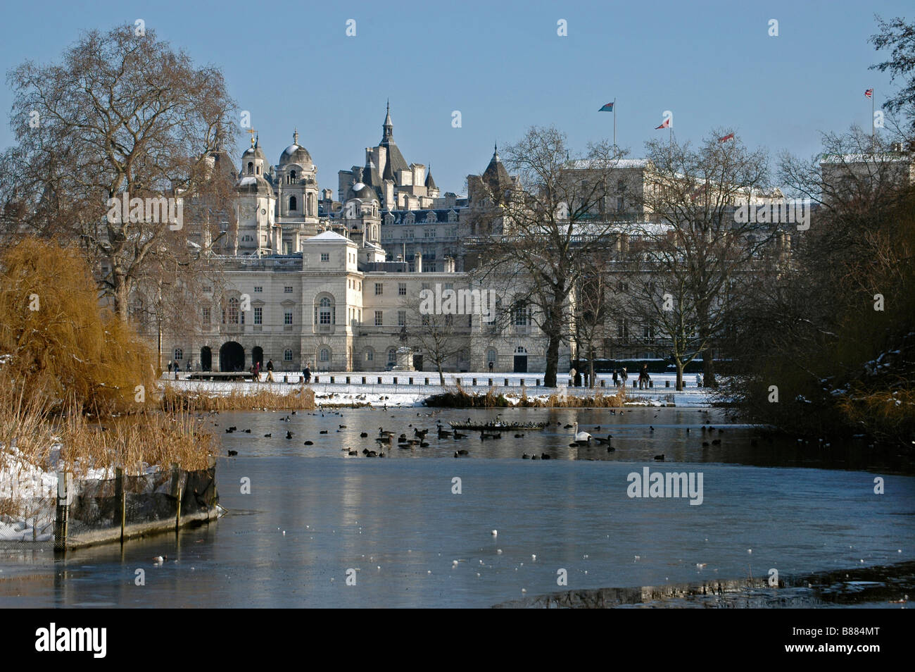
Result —
[[[751,448],[751,428],[728,425],[724,412],[674,408],[517,410],[503,417],[554,424],[519,439],[456,441],[436,439],[436,419],[495,413],[428,412],[214,417],[216,431],[239,428],[223,435],[239,455],[222,459],[218,472],[228,515],[177,539],[58,561],[48,551],[0,552],[0,606],[488,607],[557,591],[739,583],[770,569],[786,580],[915,560],[915,481],[855,448],[823,455],[761,439]],[[569,448],[564,426],[576,418],[580,430],[611,433],[617,450]],[[384,449],[384,460],[340,450],[376,450],[379,426],[409,434],[417,423],[431,428],[427,449]],[[725,431],[714,432],[720,444],[703,447],[712,433],[701,427],[710,423]],[[457,449],[469,455],[456,460]],[[521,460],[525,451],[554,459]],[[652,460],[658,453],[665,461]],[[701,472],[702,504],[628,496],[629,474],[646,467]],[[877,476],[885,494],[874,493]],[[158,555],[167,556],[161,566]],[[883,578],[911,590],[892,569]]]

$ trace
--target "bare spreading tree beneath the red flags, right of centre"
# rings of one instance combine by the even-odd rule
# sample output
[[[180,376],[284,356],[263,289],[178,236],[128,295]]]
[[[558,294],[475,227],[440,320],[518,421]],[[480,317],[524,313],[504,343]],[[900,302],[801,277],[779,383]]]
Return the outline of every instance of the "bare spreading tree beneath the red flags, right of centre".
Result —
[[[680,364],[699,353],[704,384],[714,386],[713,349],[742,298],[742,277],[779,233],[768,221],[740,217],[738,206],[780,192],[768,187],[766,152],[749,150],[730,133],[713,132],[697,147],[675,141],[647,147],[653,185],[641,204],[654,221],[633,226],[640,243],[631,259],[640,310],[672,340],[678,389]],[[673,309],[670,300],[662,302],[666,308],[644,304],[665,294]]]

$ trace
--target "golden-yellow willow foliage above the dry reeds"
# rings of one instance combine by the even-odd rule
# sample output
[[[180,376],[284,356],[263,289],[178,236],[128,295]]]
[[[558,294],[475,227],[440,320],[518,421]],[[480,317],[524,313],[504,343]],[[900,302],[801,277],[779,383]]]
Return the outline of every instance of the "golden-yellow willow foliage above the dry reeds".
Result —
[[[0,374],[83,413],[132,412],[154,401],[152,356],[99,303],[78,249],[26,238],[0,255]]]

